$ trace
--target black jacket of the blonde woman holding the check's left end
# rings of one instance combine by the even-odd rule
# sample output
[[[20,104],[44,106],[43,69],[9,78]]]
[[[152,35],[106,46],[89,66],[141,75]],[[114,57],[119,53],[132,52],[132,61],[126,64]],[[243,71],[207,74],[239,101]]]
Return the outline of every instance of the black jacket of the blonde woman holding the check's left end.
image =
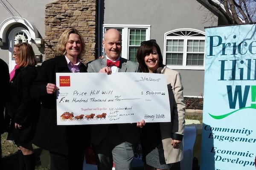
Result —
[[[46,91],[48,83],[56,84],[56,72],[70,72],[64,55],[44,61],[33,83],[32,98],[41,101],[41,112],[33,143],[45,150],[67,155],[70,144],[88,143],[89,137],[84,132],[90,130],[87,130],[89,126],[57,126],[56,94],[50,95]],[[87,72],[87,67],[83,63],[80,65],[80,72]]]

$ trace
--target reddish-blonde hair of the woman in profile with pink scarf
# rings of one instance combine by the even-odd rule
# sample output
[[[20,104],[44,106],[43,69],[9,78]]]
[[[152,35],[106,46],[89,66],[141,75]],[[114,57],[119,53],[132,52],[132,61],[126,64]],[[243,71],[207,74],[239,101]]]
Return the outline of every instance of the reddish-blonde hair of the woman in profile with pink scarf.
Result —
[[[35,58],[35,53],[32,46],[28,43],[19,43],[14,45],[17,49],[17,54],[19,58],[19,67],[35,66],[38,62]]]

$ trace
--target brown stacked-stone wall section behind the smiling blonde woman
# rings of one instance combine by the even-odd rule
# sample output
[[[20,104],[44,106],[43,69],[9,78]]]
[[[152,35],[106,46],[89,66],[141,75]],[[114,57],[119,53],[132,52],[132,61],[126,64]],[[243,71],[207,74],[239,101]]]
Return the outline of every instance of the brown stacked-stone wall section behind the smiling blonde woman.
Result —
[[[54,58],[54,48],[61,34],[73,27],[84,36],[86,52],[82,62],[95,59],[97,0],[55,0],[45,9],[45,59]]]

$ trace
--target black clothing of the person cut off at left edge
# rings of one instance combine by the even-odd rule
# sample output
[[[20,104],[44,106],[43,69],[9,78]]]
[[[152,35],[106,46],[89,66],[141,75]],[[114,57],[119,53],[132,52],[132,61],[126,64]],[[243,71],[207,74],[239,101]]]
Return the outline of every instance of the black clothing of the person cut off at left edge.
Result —
[[[1,92],[2,99],[0,102],[0,134],[2,134],[3,132],[6,131],[6,127],[4,126],[3,112],[6,107],[6,102],[9,95],[9,81],[10,81],[8,65],[2,59],[0,59],[0,78],[1,78],[1,86],[3,89]]]

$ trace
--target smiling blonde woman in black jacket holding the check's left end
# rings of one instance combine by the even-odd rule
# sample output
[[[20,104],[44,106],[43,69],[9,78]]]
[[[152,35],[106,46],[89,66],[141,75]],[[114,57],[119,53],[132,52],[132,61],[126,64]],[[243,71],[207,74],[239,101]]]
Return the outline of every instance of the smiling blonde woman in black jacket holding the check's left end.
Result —
[[[34,144],[49,150],[51,170],[82,170],[84,149],[88,143],[88,126],[57,126],[56,72],[87,72],[81,62],[85,43],[76,29],[65,30],[59,38],[56,57],[44,61],[33,83],[31,94],[41,101],[41,112]],[[85,133],[87,135],[84,135]]]

